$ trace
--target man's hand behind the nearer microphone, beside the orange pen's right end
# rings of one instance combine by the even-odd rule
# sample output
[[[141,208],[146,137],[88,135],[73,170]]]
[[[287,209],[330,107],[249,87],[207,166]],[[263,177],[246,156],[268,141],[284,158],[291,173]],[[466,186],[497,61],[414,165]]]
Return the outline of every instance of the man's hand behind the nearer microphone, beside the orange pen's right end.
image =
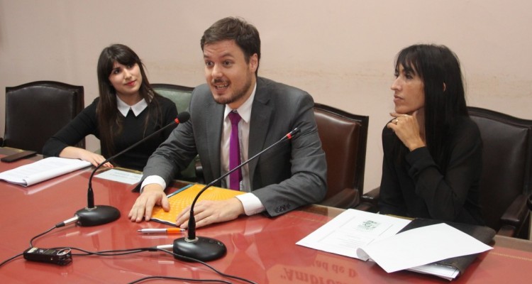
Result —
[[[228,200],[202,200],[194,206],[194,219],[196,228],[218,222],[226,222],[244,214],[244,207],[238,198]],[[189,226],[190,206],[183,209],[177,216],[176,224],[182,229]]]

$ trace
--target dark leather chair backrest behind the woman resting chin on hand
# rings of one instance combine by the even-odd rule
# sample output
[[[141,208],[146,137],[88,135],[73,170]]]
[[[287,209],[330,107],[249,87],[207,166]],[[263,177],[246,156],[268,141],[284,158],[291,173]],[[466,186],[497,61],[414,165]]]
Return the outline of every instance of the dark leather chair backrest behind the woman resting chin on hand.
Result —
[[[516,197],[531,193],[532,120],[477,107],[467,109],[482,136],[482,214],[488,226],[499,230],[501,216]]]

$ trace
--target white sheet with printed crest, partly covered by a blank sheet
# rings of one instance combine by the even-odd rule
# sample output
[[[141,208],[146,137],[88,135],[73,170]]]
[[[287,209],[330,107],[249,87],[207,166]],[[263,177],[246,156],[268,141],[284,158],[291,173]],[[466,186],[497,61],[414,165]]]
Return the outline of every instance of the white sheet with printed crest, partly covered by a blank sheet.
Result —
[[[410,220],[347,209],[296,244],[342,256],[360,258],[357,249],[394,236]]]

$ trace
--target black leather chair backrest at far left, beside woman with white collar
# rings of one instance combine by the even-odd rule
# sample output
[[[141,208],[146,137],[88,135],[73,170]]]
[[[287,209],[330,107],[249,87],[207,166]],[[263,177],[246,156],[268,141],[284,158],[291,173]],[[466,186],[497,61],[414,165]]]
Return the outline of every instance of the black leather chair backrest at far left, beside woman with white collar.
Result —
[[[43,153],[48,138],[83,108],[83,86],[37,81],[6,87],[6,129],[2,146]],[[77,146],[85,148],[85,139]]]

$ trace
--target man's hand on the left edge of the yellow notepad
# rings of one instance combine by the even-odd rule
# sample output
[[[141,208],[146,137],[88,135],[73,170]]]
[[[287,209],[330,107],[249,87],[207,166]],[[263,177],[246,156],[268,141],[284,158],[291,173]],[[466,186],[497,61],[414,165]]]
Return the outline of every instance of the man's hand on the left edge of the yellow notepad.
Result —
[[[155,204],[162,206],[165,211],[170,210],[170,203],[165,195],[164,188],[153,183],[144,187],[143,193],[135,200],[128,218],[133,222],[142,222],[143,219],[150,221]]]

